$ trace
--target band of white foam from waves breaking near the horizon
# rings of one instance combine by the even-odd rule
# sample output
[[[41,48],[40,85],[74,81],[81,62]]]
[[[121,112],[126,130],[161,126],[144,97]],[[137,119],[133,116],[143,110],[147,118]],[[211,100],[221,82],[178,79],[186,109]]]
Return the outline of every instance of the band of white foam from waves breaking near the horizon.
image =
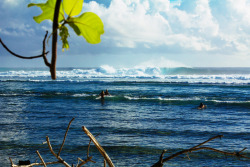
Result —
[[[103,65],[99,68],[57,70],[57,81],[127,81],[137,82],[178,82],[178,83],[207,83],[207,84],[250,84],[250,74],[194,74],[190,68],[166,69],[160,67],[118,68]],[[177,71],[177,72],[176,72]],[[190,72],[191,71],[191,72]],[[171,74],[174,73],[174,74]],[[176,73],[176,74],[175,74]],[[0,80],[30,80],[35,82],[51,81],[49,71],[45,70],[11,70],[0,72]]]

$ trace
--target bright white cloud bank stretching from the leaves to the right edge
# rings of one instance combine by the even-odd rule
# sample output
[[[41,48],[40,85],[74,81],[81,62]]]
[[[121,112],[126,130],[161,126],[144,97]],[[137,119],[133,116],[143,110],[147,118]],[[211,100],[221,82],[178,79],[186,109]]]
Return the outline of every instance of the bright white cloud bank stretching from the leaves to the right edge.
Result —
[[[109,7],[90,2],[99,14],[105,40],[117,47],[178,47],[193,51],[248,51],[249,2],[240,0],[112,0]],[[190,5],[190,3],[192,3]],[[223,4],[222,6],[220,6]]]

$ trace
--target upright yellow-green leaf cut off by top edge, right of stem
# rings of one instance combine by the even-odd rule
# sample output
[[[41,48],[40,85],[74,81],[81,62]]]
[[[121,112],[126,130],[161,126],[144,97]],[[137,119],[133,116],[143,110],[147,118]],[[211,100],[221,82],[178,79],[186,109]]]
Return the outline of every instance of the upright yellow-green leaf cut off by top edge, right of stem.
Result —
[[[68,16],[79,15],[82,11],[83,0],[63,0],[63,9]]]

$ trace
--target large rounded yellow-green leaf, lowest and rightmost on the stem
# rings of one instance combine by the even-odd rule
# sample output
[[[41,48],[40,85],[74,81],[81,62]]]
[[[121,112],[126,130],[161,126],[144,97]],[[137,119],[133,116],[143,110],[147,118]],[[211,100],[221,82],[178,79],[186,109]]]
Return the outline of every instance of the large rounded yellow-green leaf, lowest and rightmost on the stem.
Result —
[[[70,18],[68,23],[74,29],[75,33],[82,35],[88,43],[97,44],[101,42],[104,25],[95,13],[83,13],[79,17]]]

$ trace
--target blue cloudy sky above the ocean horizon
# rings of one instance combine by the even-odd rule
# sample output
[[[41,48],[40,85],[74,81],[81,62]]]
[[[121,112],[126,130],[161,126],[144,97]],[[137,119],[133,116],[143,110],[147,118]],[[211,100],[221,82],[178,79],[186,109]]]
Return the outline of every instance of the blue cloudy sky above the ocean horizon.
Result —
[[[0,3],[0,38],[23,56],[41,54],[52,30],[51,21],[33,20],[42,11],[31,2],[46,0]],[[69,30],[70,49],[62,52],[59,41],[57,67],[250,67],[249,9],[250,0],[85,0],[82,13],[103,21],[101,43]],[[45,67],[42,58],[19,59],[2,46],[0,60],[0,67]]]

